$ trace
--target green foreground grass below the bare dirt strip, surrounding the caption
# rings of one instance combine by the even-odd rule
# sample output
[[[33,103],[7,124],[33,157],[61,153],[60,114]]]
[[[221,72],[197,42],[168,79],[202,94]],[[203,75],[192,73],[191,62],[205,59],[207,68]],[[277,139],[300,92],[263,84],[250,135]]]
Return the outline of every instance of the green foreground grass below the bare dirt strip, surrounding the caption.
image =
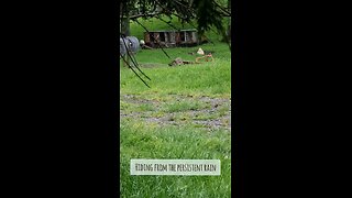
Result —
[[[121,122],[121,197],[230,197],[231,141],[224,130]],[[221,176],[131,176],[131,158],[220,160]]]

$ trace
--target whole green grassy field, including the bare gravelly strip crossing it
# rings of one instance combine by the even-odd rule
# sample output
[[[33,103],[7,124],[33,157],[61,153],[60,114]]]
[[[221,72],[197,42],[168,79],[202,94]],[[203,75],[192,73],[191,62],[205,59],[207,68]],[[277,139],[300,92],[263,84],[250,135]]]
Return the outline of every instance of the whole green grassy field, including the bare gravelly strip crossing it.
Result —
[[[148,25],[163,24],[154,21]],[[132,25],[132,35],[142,31]],[[129,68],[120,67],[121,197],[230,197],[229,47],[216,41],[215,45],[165,51],[172,58],[194,61],[195,55],[188,53],[199,47],[213,51],[215,62],[169,67],[170,59],[161,50],[141,51],[136,59],[152,79],[147,80],[151,88]],[[131,158],[220,160],[221,175],[131,176]]]

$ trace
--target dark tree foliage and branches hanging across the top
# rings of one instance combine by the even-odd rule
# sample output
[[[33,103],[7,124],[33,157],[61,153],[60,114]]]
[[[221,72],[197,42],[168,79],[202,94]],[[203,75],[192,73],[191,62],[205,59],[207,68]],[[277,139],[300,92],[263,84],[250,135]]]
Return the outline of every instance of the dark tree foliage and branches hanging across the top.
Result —
[[[230,20],[223,23],[224,18],[231,18],[230,0],[121,0],[120,32],[130,35],[130,20],[160,15],[177,16],[182,23],[195,21],[200,35],[215,28],[230,41]]]

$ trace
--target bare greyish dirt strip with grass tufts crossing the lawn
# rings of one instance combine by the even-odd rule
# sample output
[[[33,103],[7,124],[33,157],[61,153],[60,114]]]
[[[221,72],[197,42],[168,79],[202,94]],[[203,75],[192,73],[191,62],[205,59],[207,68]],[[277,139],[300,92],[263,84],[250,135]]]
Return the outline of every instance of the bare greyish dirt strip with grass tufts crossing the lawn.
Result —
[[[209,108],[199,110],[187,110],[182,112],[164,112],[161,107],[167,105],[166,101],[145,99],[138,95],[122,95],[120,101],[133,105],[150,103],[153,106],[153,111],[139,111],[128,113],[120,110],[121,119],[135,119],[145,122],[157,123],[158,125],[184,125],[194,124],[208,130],[224,129],[231,131],[231,100],[226,98],[210,97],[193,97],[183,95],[172,95],[172,101],[195,101],[198,100],[207,103]],[[162,112],[160,117],[153,117],[153,112]],[[155,113],[154,113],[155,114]],[[183,118],[184,116],[187,118]],[[199,118],[204,117],[204,118]]]

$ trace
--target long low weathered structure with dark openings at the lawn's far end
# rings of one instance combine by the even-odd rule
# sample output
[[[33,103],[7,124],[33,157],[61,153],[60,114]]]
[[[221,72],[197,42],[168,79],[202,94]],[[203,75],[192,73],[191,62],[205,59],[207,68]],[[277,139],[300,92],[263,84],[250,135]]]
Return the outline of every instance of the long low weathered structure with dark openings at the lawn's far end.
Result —
[[[200,43],[196,29],[144,32],[144,42],[150,47],[155,47],[158,45],[166,47],[195,46]]]

